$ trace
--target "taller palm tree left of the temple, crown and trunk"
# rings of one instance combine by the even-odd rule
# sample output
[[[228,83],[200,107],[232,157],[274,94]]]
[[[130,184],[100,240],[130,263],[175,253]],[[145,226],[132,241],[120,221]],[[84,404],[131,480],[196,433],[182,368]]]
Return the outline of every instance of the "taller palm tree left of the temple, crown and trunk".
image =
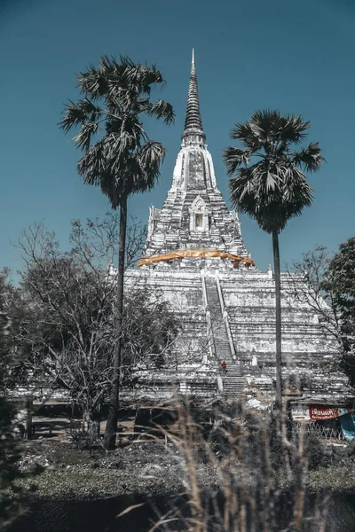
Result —
[[[127,199],[131,194],[154,187],[164,159],[162,144],[151,140],[143,127],[145,115],[174,120],[172,106],[160,99],[150,100],[152,85],[164,85],[155,66],[134,64],[127,57],[120,62],[101,58],[99,68],[76,76],[83,98],[69,100],[59,126],[66,133],[80,127],[75,145],[83,151],[77,170],[85,184],[97,185],[106,194],[112,208],[120,208],[116,325],[113,387],[110,397],[105,444],[112,449],[118,420],[121,374],[121,332],[123,277],[127,228]],[[99,105],[98,105],[99,104]],[[97,138],[96,142],[92,141]]]

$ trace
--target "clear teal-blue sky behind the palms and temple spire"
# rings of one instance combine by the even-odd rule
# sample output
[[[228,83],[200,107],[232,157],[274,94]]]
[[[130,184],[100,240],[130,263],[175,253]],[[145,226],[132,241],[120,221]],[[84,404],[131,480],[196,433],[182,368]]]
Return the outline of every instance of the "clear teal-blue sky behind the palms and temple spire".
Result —
[[[312,176],[312,207],[280,239],[282,262],[316,244],[335,250],[355,231],[355,3],[353,0],[1,0],[0,2],[0,268],[20,268],[11,241],[44,220],[67,246],[70,220],[104,215],[99,188],[76,174],[79,152],[58,129],[63,104],[76,99],[75,73],[103,54],[156,63],[163,98],[177,119],[148,132],[167,149],[153,192],[130,200],[147,220],[162,207],[185,119],[194,46],[201,116],[217,184],[228,200],[222,149],[236,121],[259,108],[299,113],[327,162]],[[160,94],[157,94],[160,96]],[[271,237],[241,215],[256,265],[272,262]]]

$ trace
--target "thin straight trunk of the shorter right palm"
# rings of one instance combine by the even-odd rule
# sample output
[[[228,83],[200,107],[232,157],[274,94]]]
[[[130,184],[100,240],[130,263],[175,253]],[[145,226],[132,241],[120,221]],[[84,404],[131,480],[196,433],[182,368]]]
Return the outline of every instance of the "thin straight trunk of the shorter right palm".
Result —
[[[279,233],[272,231],[273,265],[275,270],[275,299],[276,299],[276,401],[277,416],[280,419],[282,408],[281,382],[281,280],[280,280],[280,250]]]

